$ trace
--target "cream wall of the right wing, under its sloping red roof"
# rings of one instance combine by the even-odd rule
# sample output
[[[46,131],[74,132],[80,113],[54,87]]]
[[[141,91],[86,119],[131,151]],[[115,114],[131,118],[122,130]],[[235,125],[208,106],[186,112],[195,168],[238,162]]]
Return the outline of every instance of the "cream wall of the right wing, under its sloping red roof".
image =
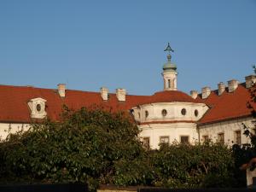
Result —
[[[200,139],[201,141],[203,141],[203,136],[208,136],[212,140],[212,142],[216,142],[218,139],[218,133],[223,132],[224,143],[232,145],[235,141],[235,131],[241,131],[241,143],[249,143],[249,138],[243,135],[244,129],[242,123],[250,127],[252,131],[252,129],[254,128],[252,120],[252,117],[247,117],[222,121],[213,124],[199,125],[198,128],[200,133]]]

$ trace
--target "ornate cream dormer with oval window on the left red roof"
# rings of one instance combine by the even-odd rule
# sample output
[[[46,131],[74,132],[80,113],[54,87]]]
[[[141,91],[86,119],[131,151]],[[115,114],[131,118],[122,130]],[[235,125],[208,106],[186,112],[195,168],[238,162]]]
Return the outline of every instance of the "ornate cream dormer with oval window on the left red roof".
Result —
[[[45,99],[38,97],[27,103],[31,111],[31,118],[44,119],[46,117],[47,113],[45,111],[45,102]]]

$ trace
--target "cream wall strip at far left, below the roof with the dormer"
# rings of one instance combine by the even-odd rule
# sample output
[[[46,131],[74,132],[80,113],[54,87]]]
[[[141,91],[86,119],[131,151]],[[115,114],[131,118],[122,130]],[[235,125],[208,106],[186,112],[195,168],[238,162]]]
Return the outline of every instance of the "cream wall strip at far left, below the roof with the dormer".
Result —
[[[0,123],[0,139],[4,140],[9,133],[27,131],[29,127],[29,124]]]

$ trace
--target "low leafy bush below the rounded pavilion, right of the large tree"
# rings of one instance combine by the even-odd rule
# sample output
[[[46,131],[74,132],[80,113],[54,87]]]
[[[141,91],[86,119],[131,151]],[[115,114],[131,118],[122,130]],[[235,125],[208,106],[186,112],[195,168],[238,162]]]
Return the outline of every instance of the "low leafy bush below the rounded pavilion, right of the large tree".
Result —
[[[153,154],[156,186],[231,187],[236,169],[230,148],[219,143],[162,146]]]

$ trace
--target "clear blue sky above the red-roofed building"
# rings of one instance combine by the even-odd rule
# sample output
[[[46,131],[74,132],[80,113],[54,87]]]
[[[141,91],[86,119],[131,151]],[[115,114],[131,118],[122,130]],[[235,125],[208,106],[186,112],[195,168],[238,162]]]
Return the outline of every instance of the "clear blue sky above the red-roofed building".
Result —
[[[256,0],[1,0],[0,84],[131,95],[244,82],[256,65]]]

